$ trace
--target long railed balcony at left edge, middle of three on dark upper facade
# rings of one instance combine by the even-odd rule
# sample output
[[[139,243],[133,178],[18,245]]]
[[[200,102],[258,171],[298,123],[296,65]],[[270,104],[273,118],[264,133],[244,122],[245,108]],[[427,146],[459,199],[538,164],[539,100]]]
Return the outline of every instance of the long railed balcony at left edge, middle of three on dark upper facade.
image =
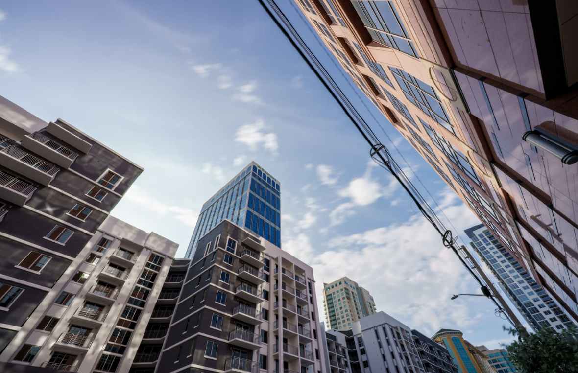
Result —
[[[0,165],[42,185],[50,184],[60,170],[16,145],[0,150]]]

